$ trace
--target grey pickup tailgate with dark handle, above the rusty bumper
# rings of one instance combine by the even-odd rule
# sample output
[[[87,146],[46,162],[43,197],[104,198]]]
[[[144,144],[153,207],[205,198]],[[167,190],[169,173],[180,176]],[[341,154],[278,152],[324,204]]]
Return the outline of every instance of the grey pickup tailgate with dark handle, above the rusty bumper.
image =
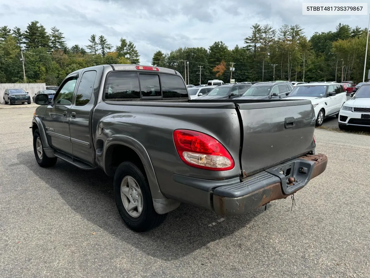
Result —
[[[246,175],[314,149],[315,113],[310,100],[238,103],[240,160]]]

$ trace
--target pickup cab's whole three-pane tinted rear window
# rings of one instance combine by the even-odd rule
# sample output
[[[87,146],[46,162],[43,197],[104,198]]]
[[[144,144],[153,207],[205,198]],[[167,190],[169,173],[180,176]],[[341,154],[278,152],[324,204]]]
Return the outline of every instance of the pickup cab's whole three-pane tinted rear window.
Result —
[[[188,98],[188,91],[184,81],[176,75],[137,72],[111,72],[108,75],[105,100],[140,99],[140,97]]]

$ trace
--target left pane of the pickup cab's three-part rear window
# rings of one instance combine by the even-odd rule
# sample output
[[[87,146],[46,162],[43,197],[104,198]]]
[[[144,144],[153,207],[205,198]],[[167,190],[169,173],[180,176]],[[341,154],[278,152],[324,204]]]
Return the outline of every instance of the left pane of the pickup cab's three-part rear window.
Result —
[[[137,72],[112,72],[105,85],[104,99],[139,99],[139,79]]]

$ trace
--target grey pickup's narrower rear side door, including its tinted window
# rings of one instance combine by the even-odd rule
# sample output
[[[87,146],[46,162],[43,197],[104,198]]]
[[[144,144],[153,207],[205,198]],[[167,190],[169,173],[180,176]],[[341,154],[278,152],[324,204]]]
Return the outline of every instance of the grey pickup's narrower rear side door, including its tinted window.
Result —
[[[69,113],[73,158],[83,160],[91,165],[95,164],[90,118],[95,102],[93,91],[95,89],[97,92],[99,89],[99,82],[95,84],[96,77],[96,70],[89,70],[82,74],[78,80],[77,93]],[[96,88],[94,84],[97,85]]]

